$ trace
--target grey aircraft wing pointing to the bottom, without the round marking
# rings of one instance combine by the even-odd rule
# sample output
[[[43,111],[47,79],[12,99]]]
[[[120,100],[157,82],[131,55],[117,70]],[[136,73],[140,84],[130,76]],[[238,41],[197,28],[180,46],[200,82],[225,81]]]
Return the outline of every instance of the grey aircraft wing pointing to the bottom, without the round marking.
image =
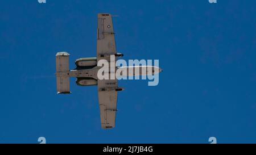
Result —
[[[98,79],[98,101],[100,103],[101,127],[114,128],[117,112],[117,79]]]

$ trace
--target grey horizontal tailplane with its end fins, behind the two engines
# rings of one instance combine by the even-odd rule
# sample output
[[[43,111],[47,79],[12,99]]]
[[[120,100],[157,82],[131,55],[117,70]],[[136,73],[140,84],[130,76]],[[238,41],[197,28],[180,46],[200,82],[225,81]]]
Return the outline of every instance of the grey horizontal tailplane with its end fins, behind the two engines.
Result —
[[[69,54],[58,52],[56,54],[57,93],[70,94],[69,88]]]

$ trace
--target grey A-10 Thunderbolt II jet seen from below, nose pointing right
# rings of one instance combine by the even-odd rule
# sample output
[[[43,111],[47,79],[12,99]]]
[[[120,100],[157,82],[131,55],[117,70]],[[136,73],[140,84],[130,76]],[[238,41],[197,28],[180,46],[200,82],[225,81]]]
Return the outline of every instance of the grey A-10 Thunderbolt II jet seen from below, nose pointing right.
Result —
[[[112,15],[98,14],[97,27],[97,57],[79,58],[75,61],[76,68],[69,70],[69,54],[67,52],[58,52],[56,54],[56,78],[57,93],[70,94],[69,77],[76,77],[76,83],[79,86],[98,86],[98,102],[100,103],[101,127],[104,129],[115,127],[115,115],[117,112],[117,92],[123,88],[118,87],[118,79],[99,79],[97,76],[101,66],[97,62],[104,59],[110,62],[110,56],[122,57],[123,54],[117,53],[115,49],[114,29]],[[104,67],[104,66],[103,66]],[[120,67],[109,66],[114,68],[114,72]],[[162,72],[157,66],[122,66],[122,69],[130,72],[129,68],[134,71],[139,68],[139,75],[142,76],[142,69],[151,69],[151,74]],[[129,70],[129,71],[128,71]],[[105,73],[110,74],[110,72]],[[129,73],[127,73],[129,74]],[[148,73],[147,73],[148,75]],[[110,76],[110,75],[108,75]],[[130,74],[129,74],[130,76]],[[131,76],[135,76],[132,74]]]

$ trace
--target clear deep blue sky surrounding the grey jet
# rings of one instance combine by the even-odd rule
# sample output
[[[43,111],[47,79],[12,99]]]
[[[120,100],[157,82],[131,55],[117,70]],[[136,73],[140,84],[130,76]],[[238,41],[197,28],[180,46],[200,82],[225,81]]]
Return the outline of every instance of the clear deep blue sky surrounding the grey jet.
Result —
[[[256,143],[256,1],[1,1],[0,143]],[[117,50],[159,59],[158,86],[119,82],[116,127],[97,87],[56,94],[55,54],[96,56],[97,14]]]

